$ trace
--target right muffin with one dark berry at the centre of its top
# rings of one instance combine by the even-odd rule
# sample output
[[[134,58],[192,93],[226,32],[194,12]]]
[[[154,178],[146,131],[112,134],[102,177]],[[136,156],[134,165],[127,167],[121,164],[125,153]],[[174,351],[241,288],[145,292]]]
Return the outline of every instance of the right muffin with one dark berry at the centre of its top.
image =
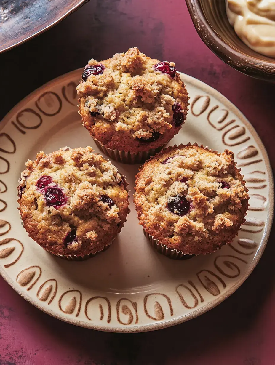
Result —
[[[151,243],[172,258],[212,253],[238,234],[248,189],[232,151],[197,144],[163,149],[136,176],[138,219]]]

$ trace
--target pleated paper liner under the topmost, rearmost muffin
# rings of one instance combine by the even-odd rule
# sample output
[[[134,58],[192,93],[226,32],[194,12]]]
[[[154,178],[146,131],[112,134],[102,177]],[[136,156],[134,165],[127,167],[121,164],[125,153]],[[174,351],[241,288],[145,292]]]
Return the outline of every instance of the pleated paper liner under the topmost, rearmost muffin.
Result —
[[[150,158],[151,156],[154,156],[156,153],[160,152],[167,143],[164,145],[157,147],[157,148],[151,148],[148,151],[142,151],[142,152],[130,152],[130,151],[119,151],[119,150],[112,150],[110,148],[107,148],[104,146],[98,139],[93,137],[93,140],[95,141],[96,145],[99,147],[99,149],[106,154],[108,157],[112,158],[112,160],[122,162],[123,164],[140,164],[142,162],[145,162]]]

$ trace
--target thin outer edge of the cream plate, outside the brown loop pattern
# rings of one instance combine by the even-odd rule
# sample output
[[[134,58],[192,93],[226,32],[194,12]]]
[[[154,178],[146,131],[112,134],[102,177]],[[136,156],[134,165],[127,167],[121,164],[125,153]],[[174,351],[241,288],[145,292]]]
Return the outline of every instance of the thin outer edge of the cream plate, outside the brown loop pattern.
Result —
[[[58,77],[54,78],[53,80],[50,80],[50,81],[46,82],[46,84],[43,84],[41,87],[37,88],[36,90],[34,90],[30,94],[28,94],[26,97],[24,97],[22,100],[20,100],[19,103],[17,103],[4,116],[4,118],[0,122],[0,131],[9,122],[10,116],[14,115],[16,113],[16,111],[21,109],[20,105],[22,103],[27,103],[28,101],[30,101],[30,99],[33,99],[37,94],[39,94],[42,90],[49,87],[50,85],[54,86],[54,85],[60,83],[61,80],[64,80],[64,79],[69,78],[69,77],[70,78],[75,77],[77,74],[80,74],[82,72],[82,70],[83,70],[83,68],[79,68],[79,69],[70,71],[68,73],[65,73],[61,76],[58,76]],[[90,329],[93,329],[93,330],[99,330],[99,331],[104,331],[104,332],[141,333],[141,332],[159,330],[159,329],[162,329],[162,328],[167,328],[167,327],[175,326],[176,324],[186,322],[187,320],[193,319],[193,318],[209,311],[210,309],[216,307],[218,304],[220,304],[222,301],[224,301],[230,295],[232,295],[244,283],[244,281],[248,278],[248,276],[254,270],[255,266],[258,264],[258,262],[261,258],[261,255],[263,254],[263,251],[266,248],[267,241],[268,241],[268,238],[270,236],[270,231],[271,231],[271,227],[272,227],[272,220],[273,220],[273,215],[274,215],[274,181],[273,181],[272,167],[271,167],[271,164],[270,164],[270,160],[269,160],[266,148],[265,148],[263,142],[261,141],[259,135],[257,134],[257,131],[255,130],[255,128],[248,121],[248,119],[244,116],[244,114],[242,114],[242,112],[231,101],[229,101],[219,91],[215,90],[210,85],[207,85],[205,82],[200,81],[200,80],[196,79],[195,77],[189,76],[189,75],[184,74],[182,72],[179,72],[179,73],[183,77],[184,82],[185,81],[190,82],[195,87],[198,87],[202,91],[205,91],[205,92],[209,93],[210,95],[214,96],[219,101],[221,101],[221,103],[226,105],[234,114],[236,114],[238,116],[238,118],[241,120],[241,122],[244,123],[245,126],[248,128],[248,130],[252,134],[253,138],[255,138],[255,141],[256,141],[257,145],[259,146],[259,148],[261,150],[261,153],[263,154],[263,159],[264,159],[264,163],[266,165],[267,174],[268,174],[268,182],[269,182],[269,184],[268,184],[268,186],[269,186],[269,188],[268,188],[268,199],[269,199],[270,209],[267,213],[266,226],[265,226],[265,229],[264,229],[264,232],[263,232],[263,242],[262,242],[261,246],[257,249],[257,251],[255,253],[255,256],[253,257],[253,260],[251,261],[251,264],[248,266],[248,269],[244,273],[244,275],[242,277],[240,277],[232,285],[232,287],[230,289],[228,289],[228,291],[226,291],[225,293],[219,295],[218,298],[212,300],[210,303],[206,304],[205,306],[203,306],[203,307],[201,307],[201,308],[199,308],[195,311],[192,311],[190,314],[185,314],[185,315],[179,316],[179,317],[174,318],[174,319],[165,320],[163,322],[143,324],[143,325],[133,325],[131,327],[123,327],[123,328],[122,327],[108,327],[106,325],[100,326],[100,325],[97,325],[93,322],[91,322],[91,323],[84,322],[83,320],[70,318],[70,317],[67,317],[63,314],[57,314],[56,312],[54,312],[50,308],[47,308],[47,310],[45,310],[45,308],[40,306],[39,303],[36,302],[30,295],[28,295],[26,292],[24,292],[23,288],[22,289],[19,288],[19,286],[17,286],[16,283],[14,282],[14,280],[12,280],[12,278],[9,277],[6,274],[6,272],[2,268],[2,266],[0,266],[0,275],[11,286],[11,288],[14,289],[15,292],[18,293],[21,297],[23,297],[23,299],[27,300],[30,304],[32,304],[33,306],[35,306],[39,310],[45,312],[46,314],[49,314],[49,315],[53,316],[54,318],[57,318],[59,320],[62,320],[64,322],[67,322],[67,323],[70,323],[70,324],[74,324],[74,325],[79,326],[79,327],[90,328]]]

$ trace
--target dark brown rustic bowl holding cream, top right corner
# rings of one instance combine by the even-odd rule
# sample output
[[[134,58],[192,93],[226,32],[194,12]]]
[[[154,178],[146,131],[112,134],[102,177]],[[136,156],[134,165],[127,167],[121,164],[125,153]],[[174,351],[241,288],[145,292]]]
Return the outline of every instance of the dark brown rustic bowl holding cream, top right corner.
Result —
[[[275,59],[250,49],[230,25],[225,0],[186,0],[200,38],[222,61],[249,76],[275,81]]]

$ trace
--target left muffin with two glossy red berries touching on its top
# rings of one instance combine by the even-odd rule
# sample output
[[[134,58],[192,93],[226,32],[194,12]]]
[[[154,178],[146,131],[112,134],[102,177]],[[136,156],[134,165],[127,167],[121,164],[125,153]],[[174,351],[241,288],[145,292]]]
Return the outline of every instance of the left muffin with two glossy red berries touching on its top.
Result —
[[[61,148],[28,160],[19,179],[20,215],[45,250],[82,260],[106,249],[129,212],[124,177],[91,147]]]

